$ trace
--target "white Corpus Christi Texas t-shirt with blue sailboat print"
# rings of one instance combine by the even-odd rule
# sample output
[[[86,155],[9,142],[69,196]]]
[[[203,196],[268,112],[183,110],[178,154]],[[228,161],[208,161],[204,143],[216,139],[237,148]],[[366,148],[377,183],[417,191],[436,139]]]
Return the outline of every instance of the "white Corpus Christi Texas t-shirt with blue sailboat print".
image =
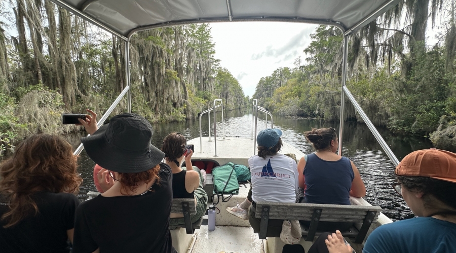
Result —
[[[249,158],[252,199],[255,202],[294,203],[298,189],[296,162],[283,154]]]

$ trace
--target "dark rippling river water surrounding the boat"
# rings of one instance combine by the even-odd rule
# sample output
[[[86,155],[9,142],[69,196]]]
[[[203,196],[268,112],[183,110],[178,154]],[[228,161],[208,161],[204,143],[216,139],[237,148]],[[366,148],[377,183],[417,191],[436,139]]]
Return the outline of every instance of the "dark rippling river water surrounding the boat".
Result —
[[[261,117],[263,115],[259,115]],[[221,135],[221,115],[218,114],[217,135]],[[245,136],[251,135],[251,109],[236,110],[225,112],[225,136]],[[211,121],[213,116],[211,117]],[[270,127],[270,120],[268,120]],[[282,139],[292,144],[304,153],[314,152],[311,143],[305,140],[303,132],[312,128],[336,128],[338,133],[338,123],[328,123],[317,119],[298,119],[274,116],[274,125],[283,131]],[[186,122],[154,124],[154,136],[152,143],[161,148],[162,141],[166,135],[173,131],[182,133],[187,140],[199,137],[198,120],[188,120]],[[265,128],[264,117],[258,120],[258,132]],[[432,147],[432,143],[426,138],[401,136],[392,134],[387,129],[377,128],[379,133],[390,145],[396,157],[401,160],[408,153]],[[202,123],[203,136],[208,135],[207,116]],[[212,135],[211,131],[211,135]],[[79,145],[80,135],[68,136],[73,146]],[[188,143],[191,144],[191,143]],[[347,122],[345,124],[343,136],[343,155],[351,159],[361,174],[367,189],[365,199],[372,205],[379,205],[383,208],[383,213],[392,220],[403,220],[413,217],[408,206],[401,196],[392,188],[394,182],[394,165],[389,160],[381,146],[376,142],[373,135],[365,124]],[[88,191],[96,190],[93,184],[92,170],[95,163],[90,160],[83,151],[79,158],[79,170],[84,178],[79,197],[86,199]]]

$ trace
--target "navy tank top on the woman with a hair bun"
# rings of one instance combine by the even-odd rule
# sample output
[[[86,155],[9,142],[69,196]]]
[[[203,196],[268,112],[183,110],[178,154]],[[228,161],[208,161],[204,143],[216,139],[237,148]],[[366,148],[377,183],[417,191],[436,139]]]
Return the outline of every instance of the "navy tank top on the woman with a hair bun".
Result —
[[[314,204],[350,204],[350,188],[355,178],[350,159],[325,161],[309,154],[304,167],[304,202]]]

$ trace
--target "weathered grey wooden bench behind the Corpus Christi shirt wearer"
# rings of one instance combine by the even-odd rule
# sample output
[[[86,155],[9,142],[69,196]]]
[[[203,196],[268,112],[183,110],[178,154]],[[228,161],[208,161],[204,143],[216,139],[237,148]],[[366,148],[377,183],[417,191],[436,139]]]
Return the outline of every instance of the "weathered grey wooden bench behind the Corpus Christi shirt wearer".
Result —
[[[260,239],[266,239],[269,219],[277,219],[310,221],[309,227],[301,224],[306,241],[313,241],[315,236],[324,232],[334,232],[317,231],[320,221],[355,223],[341,233],[354,243],[362,243],[370,225],[376,222],[381,212],[380,206],[257,202],[255,217],[261,219]]]

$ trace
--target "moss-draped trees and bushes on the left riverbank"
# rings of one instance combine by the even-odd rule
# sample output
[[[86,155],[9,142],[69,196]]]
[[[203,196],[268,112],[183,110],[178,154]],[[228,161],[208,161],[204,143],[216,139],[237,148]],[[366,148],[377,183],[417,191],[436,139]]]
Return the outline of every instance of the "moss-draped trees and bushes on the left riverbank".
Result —
[[[127,86],[125,43],[51,1],[0,0],[0,157],[35,133],[81,130],[62,113],[100,115]],[[132,111],[150,122],[194,118],[223,98],[248,104],[219,65],[207,24],[136,33],[130,42]],[[219,96],[220,95],[220,96]],[[113,115],[126,112],[126,98]]]

